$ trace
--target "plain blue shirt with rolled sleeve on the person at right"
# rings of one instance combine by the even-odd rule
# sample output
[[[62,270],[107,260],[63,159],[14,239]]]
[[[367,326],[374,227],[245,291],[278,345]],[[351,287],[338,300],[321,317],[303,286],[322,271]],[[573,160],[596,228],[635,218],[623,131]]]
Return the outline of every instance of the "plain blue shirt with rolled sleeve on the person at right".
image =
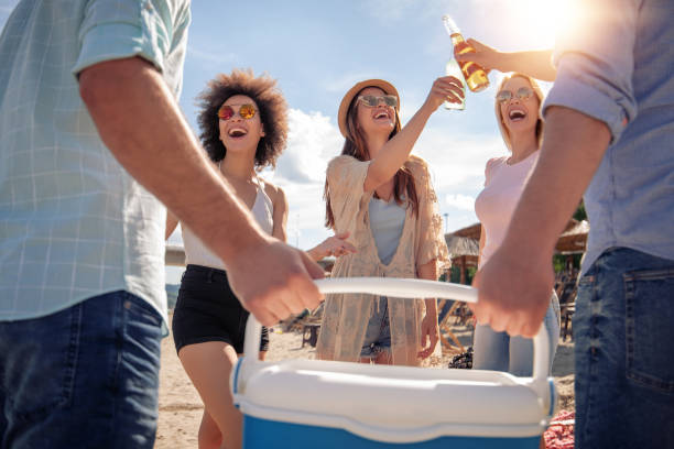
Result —
[[[674,260],[674,1],[581,2],[557,37],[557,78],[543,108],[604,121],[611,145],[585,194],[587,271],[607,249]]]

